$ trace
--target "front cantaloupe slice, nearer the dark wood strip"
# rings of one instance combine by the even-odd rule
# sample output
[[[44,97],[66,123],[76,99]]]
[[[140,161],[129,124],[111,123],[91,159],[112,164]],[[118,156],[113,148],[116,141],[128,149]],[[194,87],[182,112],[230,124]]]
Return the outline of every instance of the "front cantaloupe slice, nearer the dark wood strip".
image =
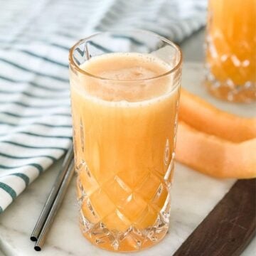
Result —
[[[176,159],[218,178],[255,178],[256,138],[229,142],[179,122]]]

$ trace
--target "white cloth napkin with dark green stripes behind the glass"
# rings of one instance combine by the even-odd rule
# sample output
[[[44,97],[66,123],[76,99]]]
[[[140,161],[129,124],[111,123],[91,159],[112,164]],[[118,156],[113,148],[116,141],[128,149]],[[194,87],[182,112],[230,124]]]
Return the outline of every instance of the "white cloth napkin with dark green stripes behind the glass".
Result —
[[[94,31],[131,27],[181,42],[205,16],[206,0],[1,1],[0,213],[72,140],[70,46]]]

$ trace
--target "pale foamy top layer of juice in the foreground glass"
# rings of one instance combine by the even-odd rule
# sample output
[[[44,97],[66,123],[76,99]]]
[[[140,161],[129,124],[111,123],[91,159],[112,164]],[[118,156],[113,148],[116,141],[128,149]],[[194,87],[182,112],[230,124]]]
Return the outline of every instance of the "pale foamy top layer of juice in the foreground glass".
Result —
[[[172,90],[169,75],[157,78],[171,67],[149,54],[109,53],[91,58],[80,68],[97,77],[80,75],[86,95],[108,102],[142,102]]]

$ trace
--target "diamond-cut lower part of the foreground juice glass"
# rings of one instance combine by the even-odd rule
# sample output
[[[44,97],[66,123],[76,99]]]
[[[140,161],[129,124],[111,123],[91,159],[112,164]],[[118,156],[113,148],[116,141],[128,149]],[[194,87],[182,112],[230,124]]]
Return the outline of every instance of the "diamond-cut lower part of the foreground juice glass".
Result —
[[[80,167],[80,228],[86,237],[90,234],[95,244],[113,250],[138,250],[164,237],[169,227],[168,181],[149,172],[134,190],[119,175],[99,185],[86,164]]]

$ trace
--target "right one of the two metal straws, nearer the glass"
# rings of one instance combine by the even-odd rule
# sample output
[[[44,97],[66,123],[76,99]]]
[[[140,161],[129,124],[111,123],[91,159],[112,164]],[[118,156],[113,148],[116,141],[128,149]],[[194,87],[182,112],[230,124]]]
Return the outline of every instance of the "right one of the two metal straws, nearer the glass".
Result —
[[[68,184],[71,181],[74,171],[75,171],[74,159],[72,159],[68,166],[68,171],[63,178],[63,182],[60,185],[60,189],[55,198],[55,201],[53,202],[53,206],[50,208],[50,213],[46,218],[46,222],[43,225],[39,238],[34,247],[36,251],[40,251],[41,248],[43,247],[44,242],[46,241],[46,233],[48,233],[48,230],[50,229],[50,225],[53,223],[53,219],[58,211],[58,208],[60,207],[61,202],[63,201],[63,198],[65,196],[65,191],[68,188]]]

